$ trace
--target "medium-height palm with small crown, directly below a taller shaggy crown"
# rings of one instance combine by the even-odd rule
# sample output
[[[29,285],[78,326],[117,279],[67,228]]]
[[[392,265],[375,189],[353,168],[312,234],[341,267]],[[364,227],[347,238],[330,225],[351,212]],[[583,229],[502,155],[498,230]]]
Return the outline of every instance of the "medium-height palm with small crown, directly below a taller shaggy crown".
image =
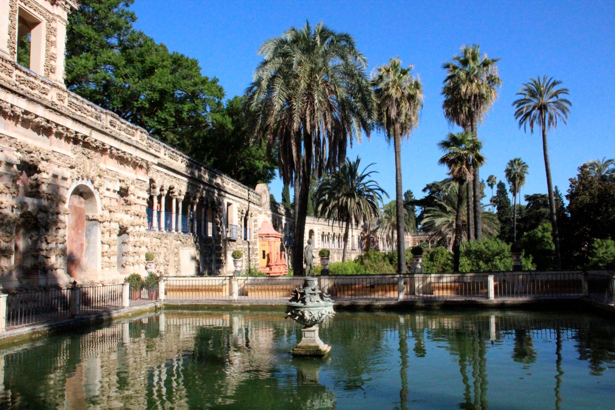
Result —
[[[474,168],[485,165],[485,157],[480,153],[483,148],[482,141],[474,138],[470,132],[459,132],[456,134],[448,133],[446,140],[438,143],[445,154],[438,160],[438,164],[446,165],[450,170],[451,179],[459,184],[459,187],[466,184],[472,175]],[[462,189],[458,190],[457,211],[455,215],[455,239],[453,242],[453,271],[459,272],[459,257],[461,254],[462,236]]]

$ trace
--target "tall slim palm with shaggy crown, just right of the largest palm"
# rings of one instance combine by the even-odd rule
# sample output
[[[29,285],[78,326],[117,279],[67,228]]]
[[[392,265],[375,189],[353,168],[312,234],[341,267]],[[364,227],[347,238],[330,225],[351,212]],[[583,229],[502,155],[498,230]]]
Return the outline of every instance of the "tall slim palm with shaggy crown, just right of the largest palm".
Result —
[[[423,108],[423,86],[411,74],[412,66],[402,68],[399,58],[379,66],[371,83],[376,97],[376,124],[393,140],[395,148],[395,206],[397,209],[397,272],[406,273],[402,192],[402,137],[410,137]]]

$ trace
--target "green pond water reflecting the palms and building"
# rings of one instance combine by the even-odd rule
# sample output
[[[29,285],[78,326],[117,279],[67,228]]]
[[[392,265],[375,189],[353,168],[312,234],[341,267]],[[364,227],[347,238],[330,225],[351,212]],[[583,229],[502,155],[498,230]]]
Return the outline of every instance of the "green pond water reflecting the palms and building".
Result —
[[[165,313],[0,352],[0,409],[615,409],[615,323],[337,313],[328,358],[281,313]]]

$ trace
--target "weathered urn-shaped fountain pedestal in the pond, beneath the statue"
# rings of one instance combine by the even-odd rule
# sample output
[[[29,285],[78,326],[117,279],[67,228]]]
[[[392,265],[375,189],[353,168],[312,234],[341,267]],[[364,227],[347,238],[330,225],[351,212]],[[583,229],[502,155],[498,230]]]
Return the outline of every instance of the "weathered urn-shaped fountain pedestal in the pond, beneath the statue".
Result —
[[[331,350],[318,336],[318,325],[333,317],[333,301],[318,288],[316,278],[306,277],[301,289],[293,290],[293,297],[286,304],[287,317],[301,323],[303,337],[290,354],[296,357],[325,357]]]

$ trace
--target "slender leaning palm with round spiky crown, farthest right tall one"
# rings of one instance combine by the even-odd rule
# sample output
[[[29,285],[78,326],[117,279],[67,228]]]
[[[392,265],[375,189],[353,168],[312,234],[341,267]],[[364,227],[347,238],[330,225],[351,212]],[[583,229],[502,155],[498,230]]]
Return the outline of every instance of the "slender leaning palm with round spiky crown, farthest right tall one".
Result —
[[[515,100],[512,106],[515,107],[515,119],[519,123],[519,128],[523,125],[523,130],[530,125],[530,133],[534,133],[534,125],[541,127],[542,131],[542,152],[544,154],[544,169],[547,174],[547,192],[549,194],[549,207],[551,226],[553,229],[553,242],[555,243],[555,261],[557,269],[561,269],[560,255],[560,233],[557,229],[557,216],[555,216],[555,195],[553,183],[551,181],[551,165],[549,164],[549,149],[547,147],[547,131],[553,127],[557,128],[557,121],[561,120],[566,124],[566,119],[570,112],[572,103],[564,95],[568,95],[568,89],[557,88],[561,81],[554,80],[553,77],[542,79],[530,79],[530,82],[523,84],[522,89],[517,93],[521,98]]]

